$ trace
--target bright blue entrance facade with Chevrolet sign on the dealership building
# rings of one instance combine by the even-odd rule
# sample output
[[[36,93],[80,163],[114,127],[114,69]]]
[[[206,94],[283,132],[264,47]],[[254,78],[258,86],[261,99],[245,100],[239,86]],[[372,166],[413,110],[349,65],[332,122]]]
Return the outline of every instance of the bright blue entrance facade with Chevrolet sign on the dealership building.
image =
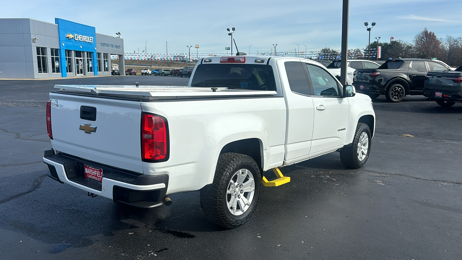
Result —
[[[55,18],[55,24],[58,25],[59,45],[60,45],[60,60],[61,60],[61,74],[63,77],[67,76],[66,57],[63,55],[64,50],[80,50],[93,53],[92,68],[95,75],[98,74],[97,70],[97,56],[96,56],[96,30],[93,26],[82,25],[68,20]],[[95,69],[96,68],[96,69]]]

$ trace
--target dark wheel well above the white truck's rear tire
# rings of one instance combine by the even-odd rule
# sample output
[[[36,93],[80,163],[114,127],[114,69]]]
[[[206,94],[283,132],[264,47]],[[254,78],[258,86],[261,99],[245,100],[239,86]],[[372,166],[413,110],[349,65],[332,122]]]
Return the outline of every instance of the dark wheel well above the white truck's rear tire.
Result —
[[[224,153],[238,153],[248,155],[255,160],[260,172],[263,174],[263,149],[262,143],[258,138],[249,138],[230,142],[221,149],[220,155]]]

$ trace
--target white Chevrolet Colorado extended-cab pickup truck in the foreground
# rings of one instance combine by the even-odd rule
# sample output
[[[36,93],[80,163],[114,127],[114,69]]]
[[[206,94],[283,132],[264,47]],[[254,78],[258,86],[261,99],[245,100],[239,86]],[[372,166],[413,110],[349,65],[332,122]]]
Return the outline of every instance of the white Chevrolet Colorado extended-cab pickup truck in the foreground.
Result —
[[[227,228],[249,219],[261,184],[290,180],[278,167],[334,151],[362,167],[374,134],[371,99],[303,58],[202,58],[188,87],[55,88],[52,179],[139,207],[201,191],[207,219]],[[276,180],[263,176],[271,169]]]

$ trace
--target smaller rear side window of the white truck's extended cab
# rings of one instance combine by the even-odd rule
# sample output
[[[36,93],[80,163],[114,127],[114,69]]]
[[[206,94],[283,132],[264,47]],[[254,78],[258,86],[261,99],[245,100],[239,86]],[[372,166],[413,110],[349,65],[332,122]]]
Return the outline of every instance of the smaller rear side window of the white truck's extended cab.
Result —
[[[302,62],[285,62],[287,79],[290,90],[302,95],[310,95],[310,87],[306,78]]]

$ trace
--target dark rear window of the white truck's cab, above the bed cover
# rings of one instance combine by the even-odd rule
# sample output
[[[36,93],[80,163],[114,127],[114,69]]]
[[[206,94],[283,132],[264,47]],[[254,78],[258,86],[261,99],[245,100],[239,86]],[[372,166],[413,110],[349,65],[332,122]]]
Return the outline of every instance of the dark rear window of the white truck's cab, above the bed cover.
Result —
[[[276,90],[276,82],[270,65],[201,64],[195,69],[191,87]]]

